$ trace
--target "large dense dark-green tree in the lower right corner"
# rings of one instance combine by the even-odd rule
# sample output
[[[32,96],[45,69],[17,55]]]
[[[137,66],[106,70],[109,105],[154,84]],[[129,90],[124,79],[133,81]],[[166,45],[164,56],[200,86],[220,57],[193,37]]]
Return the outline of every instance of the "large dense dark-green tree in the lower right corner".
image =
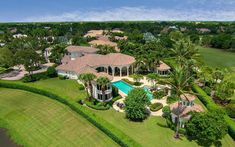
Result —
[[[187,135],[203,146],[218,145],[228,131],[223,117],[219,112],[195,113],[186,124]]]

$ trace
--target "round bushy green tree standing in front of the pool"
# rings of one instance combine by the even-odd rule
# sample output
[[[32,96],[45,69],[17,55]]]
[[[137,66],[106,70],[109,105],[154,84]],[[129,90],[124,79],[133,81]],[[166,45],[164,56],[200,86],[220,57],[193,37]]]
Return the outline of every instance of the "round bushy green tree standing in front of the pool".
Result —
[[[150,100],[142,88],[136,88],[130,91],[125,98],[126,117],[133,121],[142,121],[149,115],[147,105]]]

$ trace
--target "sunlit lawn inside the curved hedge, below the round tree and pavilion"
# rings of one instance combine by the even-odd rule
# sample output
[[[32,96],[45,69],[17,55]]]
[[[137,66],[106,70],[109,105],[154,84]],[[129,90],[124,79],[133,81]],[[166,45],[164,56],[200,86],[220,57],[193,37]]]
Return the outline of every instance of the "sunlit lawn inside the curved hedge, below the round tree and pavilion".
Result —
[[[182,137],[180,140],[174,139],[174,131],[167,128],[165,119],[162,117],[151,116],[143,122],[131,122],[125,118],[124,113],[116,112],[113,109],[94,111],[110,123],[115,124],[117,128],[131,136],[142,146],[198,146],[196,142],[189,141],[185,137]],[[222,146],[224,147],[232,147],[234,143],[229,135],[226,135],[222,140]]]

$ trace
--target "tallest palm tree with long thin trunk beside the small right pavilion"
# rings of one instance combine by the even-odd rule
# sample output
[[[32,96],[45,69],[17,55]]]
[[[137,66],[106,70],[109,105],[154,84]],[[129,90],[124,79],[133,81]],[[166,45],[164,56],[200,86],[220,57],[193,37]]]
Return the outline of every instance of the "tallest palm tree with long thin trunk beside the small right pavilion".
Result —
[[[185,94],[191,88],[193,76],[189,76],[188,69],[186,67],[178,67],[171,73],[171,79],[169,81],[162,81],[166,84],[171,85],[171,87],[175,90],[176,96],[179,98],[180,95]],[[188,92],[187,92],[188,93]],[[179,138],[179,127],[180,127],[180,100],[178,100],[177,107],[177,122],[176,122],[176,132],[175,137]]]

